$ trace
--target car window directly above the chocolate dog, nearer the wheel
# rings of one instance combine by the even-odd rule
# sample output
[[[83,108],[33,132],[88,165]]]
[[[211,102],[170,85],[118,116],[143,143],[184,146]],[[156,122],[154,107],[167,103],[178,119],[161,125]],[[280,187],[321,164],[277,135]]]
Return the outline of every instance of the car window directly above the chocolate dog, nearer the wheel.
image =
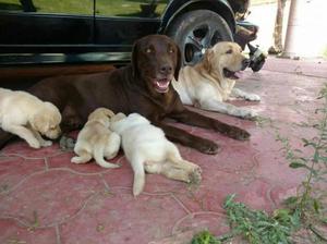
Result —
[[[169,0],[96,0],[96,14],[124,17],[159,17]]]

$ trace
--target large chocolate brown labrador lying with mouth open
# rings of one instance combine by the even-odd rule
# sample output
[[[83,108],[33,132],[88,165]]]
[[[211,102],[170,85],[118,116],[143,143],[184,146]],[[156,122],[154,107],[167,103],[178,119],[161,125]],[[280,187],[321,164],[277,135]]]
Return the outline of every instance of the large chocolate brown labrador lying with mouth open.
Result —
[[[190,111],[182,105],[171,85],[180,68],[181,56],[173,40],[164,35],[149,35],[134,44],[132,63],[128,66],[108,73],[46,78],[29,91],[59,108],[65,132],[81,127],[92,111],[105,107],[114,113],[141,113],[161,127],[169,139],[205,154],[217,154],[218,145],[171,126],[165,119],[247,139],[246,131]]]

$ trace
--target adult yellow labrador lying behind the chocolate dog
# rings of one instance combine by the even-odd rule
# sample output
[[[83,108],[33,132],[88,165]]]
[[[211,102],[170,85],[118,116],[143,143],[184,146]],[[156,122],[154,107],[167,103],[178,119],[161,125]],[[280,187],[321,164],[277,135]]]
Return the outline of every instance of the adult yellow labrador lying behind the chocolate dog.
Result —
[[[231,97],[261,100],[258,95],[234,87],[237,72],[249,62],[238,44],[221,41],[208,49],[199,63],[181,69],[178,82],[172,85],[184,105],[251,119],[257,115],[254,111],[225,102]]]

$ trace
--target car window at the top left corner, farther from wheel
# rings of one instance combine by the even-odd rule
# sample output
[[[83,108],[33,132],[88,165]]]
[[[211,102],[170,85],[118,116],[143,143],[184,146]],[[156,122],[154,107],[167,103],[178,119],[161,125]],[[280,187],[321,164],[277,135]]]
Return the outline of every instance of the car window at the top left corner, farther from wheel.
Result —
[[[93,0],[0,0],[0,11],[93,14]]]

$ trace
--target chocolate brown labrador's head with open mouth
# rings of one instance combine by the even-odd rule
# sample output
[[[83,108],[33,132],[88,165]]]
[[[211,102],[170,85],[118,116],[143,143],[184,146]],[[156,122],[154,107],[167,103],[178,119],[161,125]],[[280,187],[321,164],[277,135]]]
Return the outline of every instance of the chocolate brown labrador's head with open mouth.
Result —
[[[152,93],[167,93],[181,68],[178,46],[167,36],[149,35],[134,44],[132,53],[134,78],[145,81]]]

